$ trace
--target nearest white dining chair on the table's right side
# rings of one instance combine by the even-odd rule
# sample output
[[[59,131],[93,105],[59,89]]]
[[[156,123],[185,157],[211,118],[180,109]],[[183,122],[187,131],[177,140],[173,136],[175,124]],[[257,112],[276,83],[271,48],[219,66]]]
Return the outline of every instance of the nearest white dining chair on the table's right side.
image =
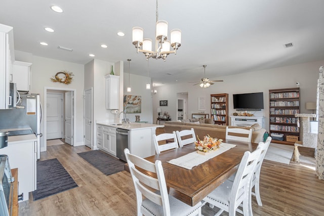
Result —
[[[203,205],[208,202],[210,207],[220,208],[215,215],[220,215],[223,211],[227,211],[229,216],[235,215],[236,211],[244,215],[252,215],[249,207],[250,184],[260,153],[260,147],[252,153],[246,151],[238,166],[234,182],[226,180],[203,199],[205,201]],[[243,211],[238,209],[240,204],[242,204]]]

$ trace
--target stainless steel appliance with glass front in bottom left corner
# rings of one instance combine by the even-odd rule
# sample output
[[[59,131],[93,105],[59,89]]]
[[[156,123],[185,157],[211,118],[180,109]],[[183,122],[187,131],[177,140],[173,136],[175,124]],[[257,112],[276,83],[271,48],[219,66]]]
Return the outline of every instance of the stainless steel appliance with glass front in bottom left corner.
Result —
[[[0,215],[11,216],[15,179],[11,175],[8,155],[0,155]]]

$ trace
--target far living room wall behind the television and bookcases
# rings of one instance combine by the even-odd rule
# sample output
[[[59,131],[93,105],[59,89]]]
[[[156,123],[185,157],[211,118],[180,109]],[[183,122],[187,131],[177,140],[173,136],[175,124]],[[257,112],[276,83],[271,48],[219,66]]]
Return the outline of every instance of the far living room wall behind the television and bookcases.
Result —
[[[217,79],[223,79],[224,82],[216,82],[206,89],[201,89],[197,85],[193,86],[191,83],[166,84],[161,87],[155,87],[157,93],[153,95],[153,110],[156,110],[159,106],[160,100],[168,100],[168,106],[162,107],[163,111],[168,111],[171,118],[173,120],[176,119],[177,93],[188,92],[188,116],[190,117],[192,113],[198,112],[198,97],[206,97],[206,113],[210,114],[210,95],[228,93],[228,110],[229,115],[232,115],[235,112],[233,109],[233,94],[263,92],[264,109],[256,112],[255,115],[266,117],[265,125],[268,131],[269,90],[295,88],[298,81],[300,83],[301,113],[311,113],[311,110],[305,109],[305,103],[315,102],[316,100],[318,69],[322,65],[324,65],[324,60],[216,77]],[[153,118],[157,118],[156,112],[153,112]]]

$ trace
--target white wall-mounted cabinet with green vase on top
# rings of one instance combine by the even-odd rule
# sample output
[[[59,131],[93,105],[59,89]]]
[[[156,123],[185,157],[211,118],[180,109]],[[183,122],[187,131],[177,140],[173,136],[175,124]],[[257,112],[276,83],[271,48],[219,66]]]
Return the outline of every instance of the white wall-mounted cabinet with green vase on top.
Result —
[[[119,109],[119,76],[106,75],[106,109]]]

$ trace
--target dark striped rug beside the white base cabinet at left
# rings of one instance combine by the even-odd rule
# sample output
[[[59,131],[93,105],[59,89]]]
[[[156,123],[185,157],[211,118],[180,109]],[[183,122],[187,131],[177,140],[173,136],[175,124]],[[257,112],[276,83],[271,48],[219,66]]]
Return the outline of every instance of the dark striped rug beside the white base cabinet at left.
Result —
[[[33,200],[78,187],[56,158],[37,161],[36,186],[37,190],[32,192]]]

